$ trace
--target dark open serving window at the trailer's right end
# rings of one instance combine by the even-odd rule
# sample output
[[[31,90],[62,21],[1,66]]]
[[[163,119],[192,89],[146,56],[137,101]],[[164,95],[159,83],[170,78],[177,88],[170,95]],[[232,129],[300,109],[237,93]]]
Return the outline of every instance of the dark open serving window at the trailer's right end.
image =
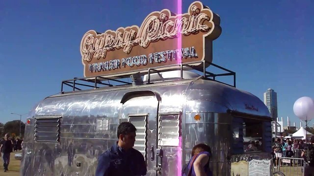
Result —
[[[234,118],[234,154],[263,150],[262,124],[262,121],[257,119]]]

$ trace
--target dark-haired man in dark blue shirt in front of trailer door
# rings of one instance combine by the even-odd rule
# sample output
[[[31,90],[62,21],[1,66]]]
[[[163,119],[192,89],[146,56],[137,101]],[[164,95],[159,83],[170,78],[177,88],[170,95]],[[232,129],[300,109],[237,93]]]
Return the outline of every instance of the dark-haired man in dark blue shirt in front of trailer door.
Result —
[[[136,128],[122,122],[117,131],[119,141],[99,156],[96,176],[145,176],[144,156],[133,149]]]

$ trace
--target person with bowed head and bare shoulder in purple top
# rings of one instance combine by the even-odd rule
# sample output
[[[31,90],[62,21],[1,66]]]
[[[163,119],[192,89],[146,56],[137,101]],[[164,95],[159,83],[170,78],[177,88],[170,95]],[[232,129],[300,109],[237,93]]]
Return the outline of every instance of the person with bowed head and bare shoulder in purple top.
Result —
[[[208,145],[195,145],[191,156],[188,164],[183,167],[182,176],[212,176],[212,172],[209,169],[211,150]]]

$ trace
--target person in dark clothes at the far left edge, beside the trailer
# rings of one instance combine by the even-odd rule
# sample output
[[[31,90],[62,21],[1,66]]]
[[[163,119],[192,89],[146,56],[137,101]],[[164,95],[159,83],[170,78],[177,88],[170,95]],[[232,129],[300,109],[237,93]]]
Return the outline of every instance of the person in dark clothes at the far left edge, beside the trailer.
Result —
[[[0,153],[0,156],[2,156],[3,159],[4,172],[7,172],[10,163],[10,153],[13,152],[13,144],[8,133],[4,135],[4,141],[0,146],[0,151],[3,153]]]

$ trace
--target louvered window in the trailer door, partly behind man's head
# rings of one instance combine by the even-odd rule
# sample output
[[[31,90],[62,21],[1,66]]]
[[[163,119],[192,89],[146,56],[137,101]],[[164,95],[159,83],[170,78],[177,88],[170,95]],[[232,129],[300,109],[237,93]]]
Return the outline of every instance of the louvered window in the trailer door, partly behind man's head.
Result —
[[[147,115],[129,116],[128,121],[131,122],[136,128],[135,144],[133,148],[142,153],[146,159]]]

